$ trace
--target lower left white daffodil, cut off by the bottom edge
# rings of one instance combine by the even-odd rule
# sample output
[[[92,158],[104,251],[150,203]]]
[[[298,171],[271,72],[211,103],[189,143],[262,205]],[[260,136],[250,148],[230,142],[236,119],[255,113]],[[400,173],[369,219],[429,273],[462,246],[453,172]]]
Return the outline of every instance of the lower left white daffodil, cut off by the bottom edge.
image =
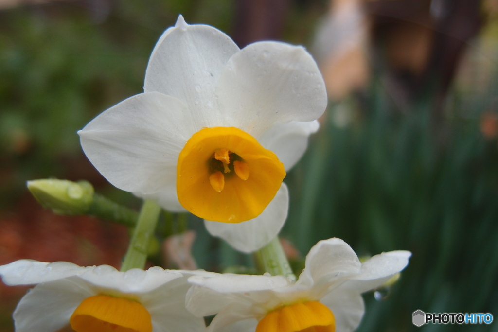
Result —
[[[0,266],[6,285],[37,284],[14,311],[16,332],[55,332],[68,325],[77,332],[204,331],[204,320],[185,309],[187,277],[196,273],[209,275],[27,259]]]

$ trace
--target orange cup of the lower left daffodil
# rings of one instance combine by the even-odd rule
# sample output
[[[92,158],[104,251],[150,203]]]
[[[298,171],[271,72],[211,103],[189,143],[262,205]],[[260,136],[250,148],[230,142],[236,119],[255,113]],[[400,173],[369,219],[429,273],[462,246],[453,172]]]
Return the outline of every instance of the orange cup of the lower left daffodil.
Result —
[[[141,304],[109,295],[83,300],[69,323],[76,332],[152,332],[150,314]]]

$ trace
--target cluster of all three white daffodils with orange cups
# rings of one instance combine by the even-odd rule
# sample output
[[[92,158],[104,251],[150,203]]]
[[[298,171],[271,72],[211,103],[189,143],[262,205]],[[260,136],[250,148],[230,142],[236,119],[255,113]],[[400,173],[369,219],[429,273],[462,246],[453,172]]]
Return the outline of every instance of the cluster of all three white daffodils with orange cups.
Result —
[[[180,16],[152,52],[144,93],[79,134],[113,185],[170,211],[190,211],[211,234],[252,252],[280,231],[289,201],[282,179],[326,104],[323,79],[304,48],[258,42],[239,49],[223,32]],[[13,314],[17,332],[68,325],[77,332],[347,332],[364,314],[361,293],[401,271],[409,257],[391,251],[362,264],[348,244],[331,238],[311,249],[297,281],[33,260],[0,266],[0,276],[7,285],[36,285]]]

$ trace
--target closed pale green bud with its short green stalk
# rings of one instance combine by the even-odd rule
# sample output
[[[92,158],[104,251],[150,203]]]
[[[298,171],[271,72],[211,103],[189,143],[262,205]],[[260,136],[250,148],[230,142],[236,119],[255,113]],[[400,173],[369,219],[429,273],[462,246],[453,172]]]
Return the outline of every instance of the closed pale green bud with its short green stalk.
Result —
[[[128,227],[134,226],[138,218],[135,211],[95,194],[87,181],[40,179],[28,181],[27,187],[44,208],[59,215],[90,215]]]

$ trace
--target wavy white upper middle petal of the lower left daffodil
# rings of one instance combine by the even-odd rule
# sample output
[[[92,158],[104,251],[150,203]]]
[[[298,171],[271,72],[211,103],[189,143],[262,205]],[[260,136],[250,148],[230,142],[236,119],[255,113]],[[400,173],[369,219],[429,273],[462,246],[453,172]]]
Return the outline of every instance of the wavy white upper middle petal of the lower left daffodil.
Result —
[[[179,272],[163,270],[158,266],[151,267],[147,271],[131,269],[120,272],[112,266],[101,265],[88,270],[79,277],[100,289],[139,295],[183,276]]]

